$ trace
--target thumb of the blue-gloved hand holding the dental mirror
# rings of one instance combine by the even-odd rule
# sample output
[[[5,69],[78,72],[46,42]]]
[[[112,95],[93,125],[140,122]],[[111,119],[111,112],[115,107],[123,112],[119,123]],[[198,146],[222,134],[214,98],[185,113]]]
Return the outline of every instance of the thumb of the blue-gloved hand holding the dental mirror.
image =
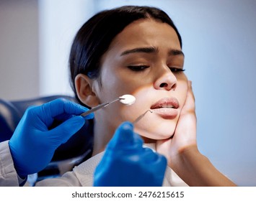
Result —
[[[69,118],[67,121],[61,123],[61,125],[53,128],[52,130],[48,131],[48,137],[51,138],[53,144],[63,144],[68,141],[71,136],[76,134],[79,129],[84,126],[84,117],[82,116],[74,116]]]

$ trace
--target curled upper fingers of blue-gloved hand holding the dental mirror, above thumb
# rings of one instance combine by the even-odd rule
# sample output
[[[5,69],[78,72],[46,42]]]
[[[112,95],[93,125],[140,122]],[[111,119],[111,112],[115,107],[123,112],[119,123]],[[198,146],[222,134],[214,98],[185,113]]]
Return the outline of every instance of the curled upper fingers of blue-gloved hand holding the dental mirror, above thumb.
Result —
[[[49,103],[45,103],[38,108],[37,116],[41,121],[45,123],[46,126],[50,126],[53,123],[54,118],[58,117],[66,120],[69,115],[80,115],[81,113],[88,111],[88,108],[85,108],[77,103],[66,100],[65,98],[58,98]],[[69,116],[70,117],[70,116]],[[93,113],[85,116],[85,119],[93,118]]]

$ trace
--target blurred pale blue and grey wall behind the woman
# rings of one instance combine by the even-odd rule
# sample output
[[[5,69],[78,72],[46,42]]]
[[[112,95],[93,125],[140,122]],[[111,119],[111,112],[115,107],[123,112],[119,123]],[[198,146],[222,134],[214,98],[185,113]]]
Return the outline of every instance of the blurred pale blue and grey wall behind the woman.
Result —
[[[173,19],[193,81],[199,149],[240,186],[256,186],[255,0],[0,0],[0,98],[73,95],[74,35],[98,11],[128,4]]]

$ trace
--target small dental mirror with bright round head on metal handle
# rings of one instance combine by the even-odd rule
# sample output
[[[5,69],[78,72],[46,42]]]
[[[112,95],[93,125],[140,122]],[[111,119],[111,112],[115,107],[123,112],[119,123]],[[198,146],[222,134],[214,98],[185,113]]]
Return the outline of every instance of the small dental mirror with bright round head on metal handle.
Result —
[[[94,111],[97,111],[97,110],[100,110],[101,108],[107,107],[111,103],[115,103],[116,101],[120,101],[120,103],[123,103],[125,105],[131,105],[136,101],[136,98],[133,95],[125,94],[125,95],[122,95],[122,96],[116,98],[113,101],[110,101],[110,102],[107,102],[107,103],[102,103],[99,106],[95,106],[94,108],[90,109],[89,111],[81,113],[80,116],[87,116],[90,113],[93,113]]]

